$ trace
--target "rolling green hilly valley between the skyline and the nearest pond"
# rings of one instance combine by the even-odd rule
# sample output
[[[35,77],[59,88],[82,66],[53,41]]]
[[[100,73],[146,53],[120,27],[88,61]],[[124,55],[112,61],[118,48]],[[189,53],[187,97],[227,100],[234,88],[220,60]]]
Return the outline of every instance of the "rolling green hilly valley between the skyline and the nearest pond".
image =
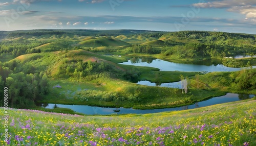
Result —
[[[19,108],[38,109],[36,105],[51,103],[159,109],[190,105],[226,93],[256,93],[253,35],[132,30],[3,34],[6,38],[0,43],[0,73],[4,84],[19,89],[11,90],[13,96],[20,95],[13,103]],[[237,55],[247,57],[234,58]],[[24,76],[18,79],[23,86],[11,81],[17,74]],[[40,84],[43,75],[45,83]],[[182,77],[189,84],[187,93],[183,93],[184,87],[136,84],[150,81],[160,86],[181,81]],[[42,86],[40,90],[31,90],[26,85],[29,80],[32,86]],[[33,101],[30,95],[24,95],[24,88],[34,94]]]

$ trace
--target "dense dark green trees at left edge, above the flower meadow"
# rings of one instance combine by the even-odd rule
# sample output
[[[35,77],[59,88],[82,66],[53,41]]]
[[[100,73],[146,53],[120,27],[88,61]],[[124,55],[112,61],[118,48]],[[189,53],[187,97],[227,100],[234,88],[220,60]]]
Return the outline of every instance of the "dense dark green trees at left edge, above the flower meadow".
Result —
[[[48,94],[48,78],[43,72],[40,74],[24,74],[24,72],[14,74],[11,72],[12,70],[9,68],[0,67],[0,88],[8,87],[10,107],[30,107]],[[2,104],[3,102],[1,102]]]

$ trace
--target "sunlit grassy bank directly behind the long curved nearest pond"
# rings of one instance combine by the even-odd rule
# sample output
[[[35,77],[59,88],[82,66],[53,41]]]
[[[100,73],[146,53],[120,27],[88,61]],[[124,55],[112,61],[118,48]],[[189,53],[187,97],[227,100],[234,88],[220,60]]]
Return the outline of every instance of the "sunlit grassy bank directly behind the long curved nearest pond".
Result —
[[[106,78],[91,82],[51,80],[50,84],[61,88],[51,88],[51,94],[42,103],[154,109],[189,105],[225,94],[218,90],[193,88],[187,94],[182,94],[181,89],[144,86]]]

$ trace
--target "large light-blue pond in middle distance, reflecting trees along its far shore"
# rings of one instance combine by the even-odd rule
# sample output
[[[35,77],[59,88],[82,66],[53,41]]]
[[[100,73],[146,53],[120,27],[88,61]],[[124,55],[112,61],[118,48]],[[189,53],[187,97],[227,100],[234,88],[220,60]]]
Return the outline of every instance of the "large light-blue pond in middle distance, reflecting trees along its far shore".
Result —
[[[212,60],[203,60],[193,62],[193,64],[183,64],[183,63],[174,63],[168,62],[161,59],[150,58],[150,57],[133,57],[127,62],[123,62],[120,64],[124,65],[134,65],[134,66],[147,66],[147,67],[155,67],[159,68],[161,71],[196,71],[196,72],[213,72],[213,71],[238,71],[243,68],[233,68],[227,67],[220,62],[216,63]],[[256,68],[256,66],[253,66]]]

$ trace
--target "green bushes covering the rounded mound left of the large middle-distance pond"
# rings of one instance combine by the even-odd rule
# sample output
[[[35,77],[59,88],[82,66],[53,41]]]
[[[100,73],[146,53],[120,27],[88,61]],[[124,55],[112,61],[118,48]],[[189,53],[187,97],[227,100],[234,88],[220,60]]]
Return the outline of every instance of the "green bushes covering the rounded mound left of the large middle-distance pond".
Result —
[[[83,62],[82,60],[64,60],[58,66],[53,78],[66,78],[73,80],[94,80],[99,77],[119,78],[136,82],[141,72],[137,69],[121,70],[105,62]]]

